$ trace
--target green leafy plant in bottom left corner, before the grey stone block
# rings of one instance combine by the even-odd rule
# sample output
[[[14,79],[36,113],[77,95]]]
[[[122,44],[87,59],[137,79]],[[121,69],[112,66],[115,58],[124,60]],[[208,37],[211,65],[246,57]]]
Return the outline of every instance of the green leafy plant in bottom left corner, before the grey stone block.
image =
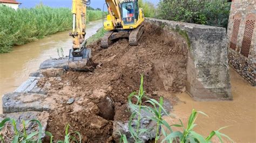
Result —
[[[5,118],[0,123],[0,131],[2,131],[3,127],[5,126],[5,123],[10,122],[12,126],[14,127],[14,137],[12,138],[12,143],[19,143],[19,142],[42,142],[42,131],[43,127],[39,120],[32,119],[29,121],[22,121],[23,126],[23,133],[17,129],[17,123],[16,120],[11,118]],[[36,122],[38,125],[38,131],[37,132],[31,132],[30,134],[26,131],[26,125],[28,125],[30,122]],[[38,136],[37,139],[34,139],[33,137]],[[0,135],[0,139],[2,142],[4,142],[4,137]]]

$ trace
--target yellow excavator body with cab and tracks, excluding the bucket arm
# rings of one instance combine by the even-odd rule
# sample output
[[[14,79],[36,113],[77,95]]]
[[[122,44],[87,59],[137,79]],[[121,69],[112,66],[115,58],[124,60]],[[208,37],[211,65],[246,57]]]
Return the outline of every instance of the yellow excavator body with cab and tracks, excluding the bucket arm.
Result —
[[[139,8],[138,0],[106,0],[107,20],[104,22],[106,34],[101,40],[101,47],[107,48],[119,38],[129,38],[131,46],[138,45],[144,32],[144,12]]]

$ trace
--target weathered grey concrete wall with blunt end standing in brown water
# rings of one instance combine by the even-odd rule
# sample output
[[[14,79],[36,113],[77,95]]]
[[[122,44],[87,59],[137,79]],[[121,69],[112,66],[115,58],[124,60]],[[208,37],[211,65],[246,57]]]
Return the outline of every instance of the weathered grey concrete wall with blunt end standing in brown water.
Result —
[[[146,22],[184,35],[190,49],[187,91],[197,101],[232,100],[226,30],[198,24],[146,18]]]

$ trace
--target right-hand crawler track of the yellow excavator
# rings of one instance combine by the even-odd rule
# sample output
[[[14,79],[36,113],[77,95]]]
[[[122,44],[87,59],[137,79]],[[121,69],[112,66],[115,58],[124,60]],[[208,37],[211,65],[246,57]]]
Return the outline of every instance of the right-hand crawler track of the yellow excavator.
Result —
[[[144,32],[144,26],[140,25],[136,29],[132,30],[129,36],[129,44],[130,46],[137,46],[139,38],[142,36]]]

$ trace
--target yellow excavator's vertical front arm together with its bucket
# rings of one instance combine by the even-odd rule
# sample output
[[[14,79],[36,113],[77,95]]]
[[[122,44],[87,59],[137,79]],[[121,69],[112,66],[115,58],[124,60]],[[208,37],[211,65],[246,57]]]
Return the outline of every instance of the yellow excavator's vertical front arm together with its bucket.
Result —
[[[91,49],[86,47],[86,5],[90,0],[72,0],[73,27],[70,36],[73,46],[69,52],[68,68],[76,71],[92,71],[96,64],[91,60]]]

